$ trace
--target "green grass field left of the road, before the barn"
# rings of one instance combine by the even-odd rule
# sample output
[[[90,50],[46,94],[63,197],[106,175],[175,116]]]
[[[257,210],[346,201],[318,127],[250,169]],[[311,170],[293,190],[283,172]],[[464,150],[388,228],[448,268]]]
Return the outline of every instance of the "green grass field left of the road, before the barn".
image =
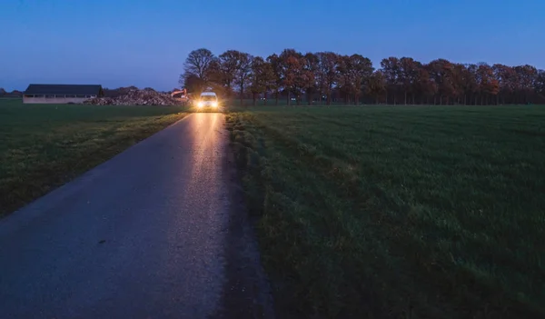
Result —
[[[0,216],[173,124],[182,111],[0,100]]]

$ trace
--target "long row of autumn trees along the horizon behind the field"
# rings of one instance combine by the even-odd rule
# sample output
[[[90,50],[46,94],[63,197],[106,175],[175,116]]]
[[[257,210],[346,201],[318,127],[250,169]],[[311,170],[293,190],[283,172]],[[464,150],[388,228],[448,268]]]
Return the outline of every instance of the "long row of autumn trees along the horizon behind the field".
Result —
[[[286,98],[287,104],[505,105],[545,103],[545,71],[531,65],[421,63],[388,57],[375,69],[362,55],[302,54],[285,49],[266,58],[236,50],[221,55],[193,50],[180,84],[188,92],[211,88],[227,98]]]

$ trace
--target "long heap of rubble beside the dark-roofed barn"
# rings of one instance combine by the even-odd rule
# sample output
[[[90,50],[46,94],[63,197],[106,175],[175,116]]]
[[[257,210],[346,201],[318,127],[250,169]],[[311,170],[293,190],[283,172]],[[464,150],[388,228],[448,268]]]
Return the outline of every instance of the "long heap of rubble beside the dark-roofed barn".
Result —
[[[160,93],[151,88],[138,90],[131,88],[124,95],[115,97],[96,97],[84,102],[86,105],[179,105],[171,95]]]

